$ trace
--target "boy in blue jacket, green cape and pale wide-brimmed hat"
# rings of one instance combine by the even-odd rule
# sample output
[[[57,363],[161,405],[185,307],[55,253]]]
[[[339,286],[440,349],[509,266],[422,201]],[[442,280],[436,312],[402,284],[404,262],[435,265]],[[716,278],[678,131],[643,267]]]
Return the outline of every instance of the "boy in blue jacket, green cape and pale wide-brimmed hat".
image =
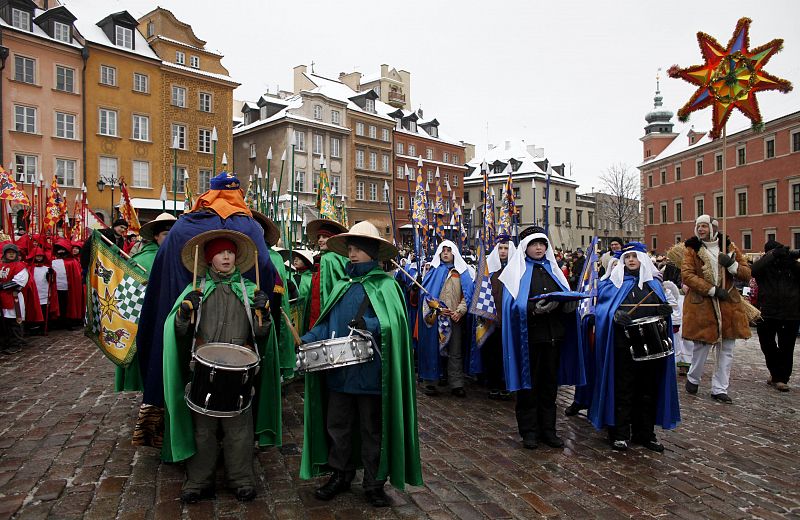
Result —
[[[405,303],[397,282],[379,263],[394,258],[397,248],[367,221],[331,237],[327,246],[350,262],[301,341],[341,338],[350,328],[361,329],[373,335],[377,352],[371,361],[306,374],[300,477],[332,471],[315,492],[318,499],[331,500],[350,489],[363,465],[367,501],[386,507],[391,504],[383,489],[387,478],[398,489],[422,484]]]

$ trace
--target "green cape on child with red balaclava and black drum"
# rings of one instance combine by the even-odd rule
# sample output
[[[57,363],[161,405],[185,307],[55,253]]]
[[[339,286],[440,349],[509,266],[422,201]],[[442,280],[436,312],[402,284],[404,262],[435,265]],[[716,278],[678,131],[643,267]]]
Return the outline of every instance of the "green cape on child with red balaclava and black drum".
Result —
[[[241,294],[241,274],[237,269],[231,276],[233,293],[243,300]],[[245,279],[245,289],[250,303],[256,286]],[[198,287],[200,284],[198,284]],[[216,289],[216,283],[206,278],[203,299]],[[168,462],[188,459],[195,453],[194,423],[189,407],[184,400],[186,384],[191,380],[189,361],[191,360],[191,339],[178,340],[175,336],[175,314],[186,294],[192,290],[189,285],[175,300],[167,320],[164,323],[164,445],[161,458]],[[257,341],[258,353],[261,357],[261,369],[255,381],[253,397],[253,417],[255,433],[261,446],[281,444],[281,384],[278,366],[277,343],[274,324],[270,327],[266,338]]]

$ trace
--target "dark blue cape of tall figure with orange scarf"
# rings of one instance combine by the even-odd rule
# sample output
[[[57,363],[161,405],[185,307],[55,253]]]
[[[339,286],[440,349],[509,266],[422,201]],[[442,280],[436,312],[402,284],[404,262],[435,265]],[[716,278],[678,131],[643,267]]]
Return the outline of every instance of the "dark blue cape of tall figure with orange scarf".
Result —
[[[241,231],[253,239],[258,249],[261,290],[272,294],[275,267],[269,259],[264,230],[258,222],[246,215],[231,215],[227,219],[210,212],[181,215],[158,248],[139,317],[136,348],[144,382],[145,404],[164,406],[164,323],[175,300],[192,283],[192,273],[181,262],[181,251],[190,238],[212,229]],[[255,281],[255,269],[250,269],[244,276]]]

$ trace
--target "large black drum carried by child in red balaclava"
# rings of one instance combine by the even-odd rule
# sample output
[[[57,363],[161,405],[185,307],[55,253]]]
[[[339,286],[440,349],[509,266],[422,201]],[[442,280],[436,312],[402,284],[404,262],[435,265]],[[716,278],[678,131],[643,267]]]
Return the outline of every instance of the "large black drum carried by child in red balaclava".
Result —
[[[253,400],[258,354],[230,343],[206,343],[192,353],[186,405],[210,417],[235,417]]]

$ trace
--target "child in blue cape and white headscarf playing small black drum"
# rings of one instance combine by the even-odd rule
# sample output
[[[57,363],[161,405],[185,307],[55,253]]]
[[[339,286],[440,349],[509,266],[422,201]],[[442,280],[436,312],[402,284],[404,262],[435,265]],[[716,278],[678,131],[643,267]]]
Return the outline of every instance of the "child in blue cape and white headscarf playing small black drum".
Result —
[[[635,360],[625,334],[633,320],[661,316],[665,334],[672,337],[672,308],[656,274],[645,245],[632,242],[624,246],[621,260],[597,288],[598,373],[589,419],[598,429],[608,427],[609,442],[617,451],[627,450],[632,441],[662,452],[655,425],[673,429],[680,422],[674,353]]]

